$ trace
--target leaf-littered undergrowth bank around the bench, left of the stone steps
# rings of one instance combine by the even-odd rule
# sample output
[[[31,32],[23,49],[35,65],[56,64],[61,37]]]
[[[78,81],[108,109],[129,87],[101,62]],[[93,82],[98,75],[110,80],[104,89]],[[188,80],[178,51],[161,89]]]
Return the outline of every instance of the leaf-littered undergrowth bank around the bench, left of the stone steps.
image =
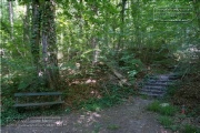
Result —
[[[117,64],[114,62],[102,61],[96,65],[81,63],[81,68],[68,65],[61,70],[60,90],[57,91],[63,92],[62,99],[66,101],[60,110],[62,114],[74,110],[102,110],[119,104],[129,95],[134,94],[133,81],[136,75],[142,72],[140,66],[143,64],[131,55],[122,57],[120,61],[124,63],[121,68],[114,66]],[[30,78],[28,79],[28,76]],[[57,110],[48,106],[30,108],[22,112],[12,106],[14,104],[13,94],[17,92],[46,91],[54,90],[46,88],[43,80],[34,78],[31,72],[27,76],[14,75],[9,80],[4,78],[2,81],[1,124],[4,125],[18,117],[58,114]],[[42,99],[31,100],[28,98],[21,102],[26,101],[40,102]]]

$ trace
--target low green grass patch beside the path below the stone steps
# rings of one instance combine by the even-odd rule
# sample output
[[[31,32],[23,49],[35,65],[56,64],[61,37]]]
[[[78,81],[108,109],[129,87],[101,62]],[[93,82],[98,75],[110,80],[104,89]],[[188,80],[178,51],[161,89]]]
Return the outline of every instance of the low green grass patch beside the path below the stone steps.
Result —
[[[182,108],[167,101],[154,101],[147,110],[158,113],[158,122],[166,129],[181,133],[200,133],[199,119],[182,112]]]

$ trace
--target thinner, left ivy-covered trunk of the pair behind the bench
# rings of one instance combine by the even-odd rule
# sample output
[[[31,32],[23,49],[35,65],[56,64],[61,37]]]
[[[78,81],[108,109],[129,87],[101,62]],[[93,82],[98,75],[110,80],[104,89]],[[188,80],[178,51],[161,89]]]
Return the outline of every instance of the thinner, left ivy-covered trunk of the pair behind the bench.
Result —
[[[41,12],[39,0],[32,0],[31,53],[33,58],[33,64],[37,66],[37,73],[39,71],[40,60],[40,22]]]

